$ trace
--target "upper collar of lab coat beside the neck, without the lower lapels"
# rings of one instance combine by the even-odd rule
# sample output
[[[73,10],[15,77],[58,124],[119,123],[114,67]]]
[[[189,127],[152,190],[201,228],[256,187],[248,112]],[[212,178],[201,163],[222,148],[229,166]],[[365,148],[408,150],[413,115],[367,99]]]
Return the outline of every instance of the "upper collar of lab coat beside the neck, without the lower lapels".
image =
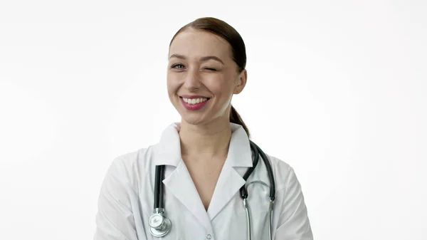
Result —
[[[227,162],[231,167],[252,167],[251,145],[245,129],[236,123],[230,122],[231,141],[228,147]],[[160,138],[159,144],[155,145],[155,165],[172,165],[177,167],[181,162],[181,142],[179,130],[181,122],[169,125]]]

